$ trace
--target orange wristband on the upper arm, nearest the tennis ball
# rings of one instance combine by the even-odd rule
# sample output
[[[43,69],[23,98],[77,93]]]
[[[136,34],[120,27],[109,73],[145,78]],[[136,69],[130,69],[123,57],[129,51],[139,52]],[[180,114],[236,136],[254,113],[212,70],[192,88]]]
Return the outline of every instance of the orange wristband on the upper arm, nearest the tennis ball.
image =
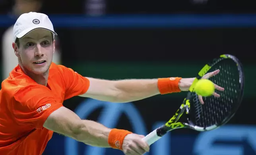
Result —
[[[157,87],[159,92],[163,94],[180,92],[178,82],[182,79],[181,77],[168,77],[159,78],[157,81]]]

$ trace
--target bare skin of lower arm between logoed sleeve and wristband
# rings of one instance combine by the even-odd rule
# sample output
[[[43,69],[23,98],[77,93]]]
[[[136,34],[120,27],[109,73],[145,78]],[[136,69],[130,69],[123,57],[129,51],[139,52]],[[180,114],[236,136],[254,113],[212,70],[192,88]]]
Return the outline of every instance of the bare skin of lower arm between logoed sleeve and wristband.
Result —
[[[108,136],[111,129],[94,121],[81,120],[76,113],[65,107],[52,112],[43,126],[91,146],[110,147]]]

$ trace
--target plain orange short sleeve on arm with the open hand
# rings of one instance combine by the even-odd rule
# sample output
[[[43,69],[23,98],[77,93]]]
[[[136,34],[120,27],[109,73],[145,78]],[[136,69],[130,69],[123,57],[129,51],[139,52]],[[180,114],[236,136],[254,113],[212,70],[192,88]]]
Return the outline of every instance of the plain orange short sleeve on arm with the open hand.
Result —
[[[58,65],[62,76],[65,81],[66,92],[64,100],[71,98],[73,96],[82,95],[87,92],[89,89],[89,79],[86,77],[81,76],[77,72],[74,72],[71,68],[67,68],[62,65]]]

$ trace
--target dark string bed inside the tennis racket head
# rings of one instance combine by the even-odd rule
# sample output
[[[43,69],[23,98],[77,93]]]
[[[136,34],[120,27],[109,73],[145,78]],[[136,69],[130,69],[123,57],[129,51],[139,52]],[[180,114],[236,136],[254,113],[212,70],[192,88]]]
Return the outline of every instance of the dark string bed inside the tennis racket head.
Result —
[[[221,97],[203,97],[204,105],[202,105],[199,102],[198,95],[193,93],[192,100],[190,100],[190,119],[200,127],[223,123],[225,118],[234,110],[237,100],[239,100],[241,88],[237,64],[233,60],[225,59],[214,65],[209,72],[217,69],[220,70],[220,73],[211,77],[210,80],[225,88],[225,91],[215,90]]]

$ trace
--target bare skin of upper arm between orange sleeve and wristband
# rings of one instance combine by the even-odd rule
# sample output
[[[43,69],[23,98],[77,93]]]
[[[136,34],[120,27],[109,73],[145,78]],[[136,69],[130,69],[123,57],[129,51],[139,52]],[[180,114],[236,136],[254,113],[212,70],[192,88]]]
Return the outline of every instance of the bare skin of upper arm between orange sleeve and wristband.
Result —
[[[109,102],[131,102],[159,94],[157,79],[105,80],[87,77],[88,91],[80,96]]]

